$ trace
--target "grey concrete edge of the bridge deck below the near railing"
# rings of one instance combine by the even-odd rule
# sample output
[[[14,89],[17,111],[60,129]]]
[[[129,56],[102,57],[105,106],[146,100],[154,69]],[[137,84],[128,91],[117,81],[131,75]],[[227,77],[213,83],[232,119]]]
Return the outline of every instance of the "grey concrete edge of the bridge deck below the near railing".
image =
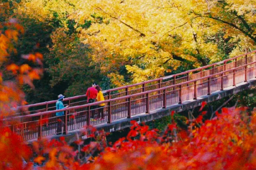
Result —
[[[193,107],[200,106],[202,101],[212,102],[215,100],[219,100],[223,97],[229,96],[231,94],[236,94],[237,92],[243,91],[243,90],[248,89],[249,87],[255,86],[255,85],[256,85],[256,78],[253,78],[253,79],[249,80],[248,83],[241,82],[241,83],[238,83],[236,87],[230,86],[230,87],[225,88],[223,91],[219,90],[219,91],[213,92],[211,95],[200,96],[197,98],[197,100],[193,100],[193,99],[186,100],[182,104],[173,104],[171,106],[167,106],[166,108],[158,108],[158,109],[152,110],[150,114],[146,114],[145,112],[143,112],[141,114],[132,116],[132,118],[130,118],[130,119],[121,118],[121,119],[113,120],[113,122],[111,124],[104,122],[101,124],[96,124],[96,125],[94,125],[94,127],[97,129],[104,129],[106,132],[121,130],[121,129],[130,127],[131,120],[136,120],[137,122],[138,121],[140,121],[140,122],[152,121],[154,119],[159,119],[163,116],[170,115],[172,110],[175,112],[185,111],[185,110],[191,109]],[[72,125],[69,125],[69,126],[72,126]],[[56,131],[56,129],[54,129],[54,130]],[[85,132],[86,132],[86,128],[78,128],[78,129],[69,131],[68,135],[64,135],[64,136],[67,137],[67,142],[71,143],[71,142],[74,142],[77,140],[77,135],[79,137],[82,137],[83,139],[87,138],[86,135],[84,135]],[[62,136],[62,135],[60,135],[60,136]],[[47,135],[44,138],[52,139],[52,138],[59,138],[60,136],[59,135]],[[37,140],[37,139],[30,139],[27,142],[33,142],[35,140]]]

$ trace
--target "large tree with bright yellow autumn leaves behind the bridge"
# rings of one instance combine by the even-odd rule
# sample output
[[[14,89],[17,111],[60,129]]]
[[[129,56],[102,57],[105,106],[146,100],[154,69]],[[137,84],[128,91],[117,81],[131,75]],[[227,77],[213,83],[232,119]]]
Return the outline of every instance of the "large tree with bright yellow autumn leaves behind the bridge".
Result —
[[[20,11],[41,20],[54,11],[73,20],[90,58],[117,85],[124,81],[122,66],[135,83],[163,76],[168,68],[221,60],[223,39],[234,44],[231,56],[255,49],[253,0],[30,0]],[[67,22],[63,27],[69,28]]]

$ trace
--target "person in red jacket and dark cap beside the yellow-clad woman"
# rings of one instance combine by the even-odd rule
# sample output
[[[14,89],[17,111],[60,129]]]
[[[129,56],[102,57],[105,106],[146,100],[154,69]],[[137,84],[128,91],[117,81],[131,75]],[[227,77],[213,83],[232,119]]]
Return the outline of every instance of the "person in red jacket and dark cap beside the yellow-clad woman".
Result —
[[[94,103],[95,99],[97,98],[98,95],[98,90],[95,88],[97,86],[97,83],[93,83],[92,87],[89,87],[86,91],[86,96],[87,96],[87,102],[88,103]],[[90,110],[91,110],[91,118],[93,118],[94,116],[94,112],[95,109],[97,108],[97,106],[91,106]],[[89,109],[89,108],[88,108]]]

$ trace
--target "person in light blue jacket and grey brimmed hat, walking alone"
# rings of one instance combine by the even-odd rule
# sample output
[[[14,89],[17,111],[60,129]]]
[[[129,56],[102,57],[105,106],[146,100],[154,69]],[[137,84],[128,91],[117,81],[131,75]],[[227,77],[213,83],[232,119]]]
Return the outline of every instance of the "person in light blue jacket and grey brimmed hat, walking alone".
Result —
[[[58,101],[56,102],[56,110],[65,108],[64,104],[63,104],[64,97],[65,96],[63,96],[62,94],[60,94],[58,96]],[[68,107],[68,106],[66,106],[66,107]],[[64,115],[64,111],[56,112],[56,116],[61,116],[61,117],[58,118],[61,121],[58,121],[58,123],[57,123],[57,131],[56,131],[57,135],[62,134],[62,123],[64,121],[63,115]]]

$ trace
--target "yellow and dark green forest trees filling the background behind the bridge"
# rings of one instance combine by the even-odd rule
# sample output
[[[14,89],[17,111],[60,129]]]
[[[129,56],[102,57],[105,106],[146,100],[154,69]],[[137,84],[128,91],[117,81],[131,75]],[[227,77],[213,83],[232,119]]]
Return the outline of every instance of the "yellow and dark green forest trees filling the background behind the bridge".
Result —
[[[256,49],[255,0],[0,0],[0,22],[24,27],[1,65],[44,55],[29,103],[105,90],[215,63]]]

